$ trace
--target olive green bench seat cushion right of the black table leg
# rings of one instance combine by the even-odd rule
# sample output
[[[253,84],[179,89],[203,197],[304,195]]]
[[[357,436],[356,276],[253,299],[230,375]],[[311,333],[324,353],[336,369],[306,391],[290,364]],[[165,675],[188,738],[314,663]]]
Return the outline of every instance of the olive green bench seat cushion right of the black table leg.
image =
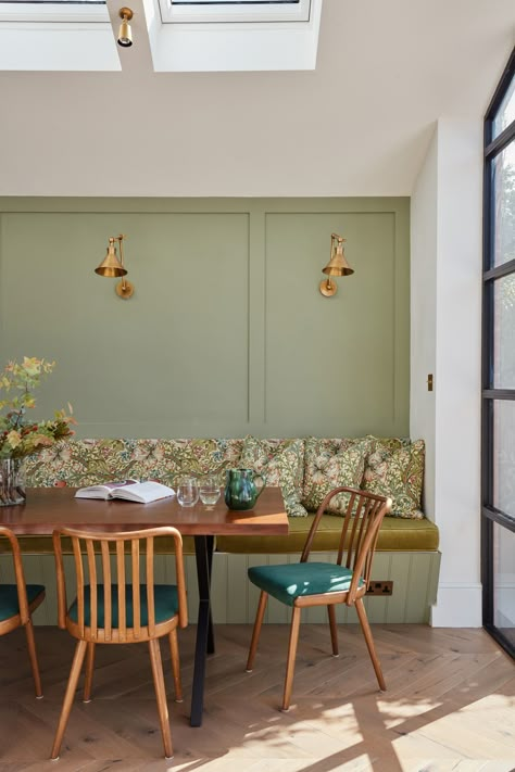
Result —
[[[290,532],[287,536],[218,536],[216,552],[248,555],[278,555],[300,553],[314,520],[307,517],[288,518]],[[343,521],[338,515],[323,515],[312,549],[334,552],[338,549]],[[379,552],[435,552],[438,549],[439,534],[434,522],[404,520],[386,517],[379,531]]]

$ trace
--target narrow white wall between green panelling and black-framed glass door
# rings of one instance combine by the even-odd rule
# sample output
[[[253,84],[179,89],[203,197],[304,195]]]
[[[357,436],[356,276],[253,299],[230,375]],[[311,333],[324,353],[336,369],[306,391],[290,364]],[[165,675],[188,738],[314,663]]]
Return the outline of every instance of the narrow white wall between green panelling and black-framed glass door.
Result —
[[[481,624],[481,157],[480,119],[440,119],[412,204],[411,434],[427,438],[440,529],[436,627]]]

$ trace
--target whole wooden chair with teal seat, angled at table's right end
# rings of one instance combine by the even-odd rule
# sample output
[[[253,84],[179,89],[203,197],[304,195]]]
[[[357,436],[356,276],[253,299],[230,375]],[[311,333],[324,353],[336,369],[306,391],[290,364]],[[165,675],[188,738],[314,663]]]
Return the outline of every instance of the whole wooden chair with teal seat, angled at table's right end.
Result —
[[[330,562],[309,562],[307,558],[321,518],[330,499],[339,493],[348,494],[349,503],[346,515],[342,517],[337,562],[336,565]],[[363,605],[363,596],[370,581],[372,560],[379,528],[382,518],[390,511],[390,498],[375,496],[351,488],[336,488],[327,494],[318,507],[307,534],[300,562],[279,566],[253,566],[249,569],[249,579],[260,587],[261,596],[247,661],[248,672],[252,671],[268,595],[292,607],[281,710],[288,710],[290,707],[301,610],[307,606],[327,606],[332,655],[335,657],[338,656],[335,606],[336,604],[346,604],[347,606],[355,607],[379,688],[386,689],[385,679],[382,678],[381,667],[376,655],[374,640]],[[344,565],[342,565],[343,556],[346,556]]]

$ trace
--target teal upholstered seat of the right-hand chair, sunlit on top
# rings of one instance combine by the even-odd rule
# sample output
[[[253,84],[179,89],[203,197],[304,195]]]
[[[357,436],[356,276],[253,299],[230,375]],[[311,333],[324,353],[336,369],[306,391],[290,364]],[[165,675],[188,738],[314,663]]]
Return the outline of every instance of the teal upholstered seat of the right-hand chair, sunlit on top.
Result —
[[[348,592],[352,571],[329,562],[290,562],[249,568],[249,579],[260,590],[292,606],[296,598],[321,593]],[[359,586],[364,582],[360,579]]]

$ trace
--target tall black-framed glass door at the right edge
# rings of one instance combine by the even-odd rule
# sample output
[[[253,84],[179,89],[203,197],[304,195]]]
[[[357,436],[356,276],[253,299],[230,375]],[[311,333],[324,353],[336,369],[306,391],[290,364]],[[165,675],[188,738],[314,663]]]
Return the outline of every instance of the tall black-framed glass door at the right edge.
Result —
[[[485,119],[483,625],[515,656],[515,50]]]

